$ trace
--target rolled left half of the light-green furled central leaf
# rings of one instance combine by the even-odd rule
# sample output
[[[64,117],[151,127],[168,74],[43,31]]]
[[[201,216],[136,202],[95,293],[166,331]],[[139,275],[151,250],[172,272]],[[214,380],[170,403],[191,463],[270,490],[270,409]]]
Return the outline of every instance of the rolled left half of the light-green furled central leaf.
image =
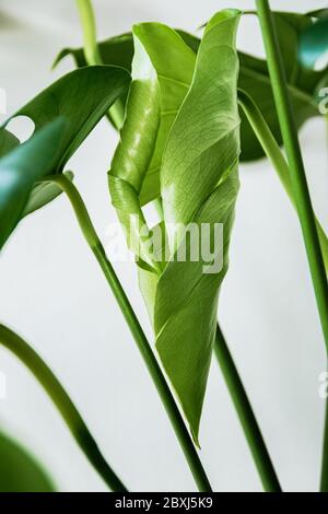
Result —
[[[131,235],[129,246],[139,255],[139,226],[144,225],[141,206],[161,195],[164,145],[190,85],[196,56],[175,31],[160,23],[136,25],[133,37],[133,81],[112,162],[109,189],[120,221]],[[152,266],[142,244],[140,257]]]

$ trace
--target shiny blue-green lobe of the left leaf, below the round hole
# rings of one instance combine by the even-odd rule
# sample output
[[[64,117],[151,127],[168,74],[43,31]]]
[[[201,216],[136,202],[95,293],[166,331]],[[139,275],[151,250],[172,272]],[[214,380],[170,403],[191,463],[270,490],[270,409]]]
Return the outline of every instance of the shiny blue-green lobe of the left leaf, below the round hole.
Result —
[[[34,184],[51,171],[65,128],[58,118],[0,159],[0,248],[19,223]]]

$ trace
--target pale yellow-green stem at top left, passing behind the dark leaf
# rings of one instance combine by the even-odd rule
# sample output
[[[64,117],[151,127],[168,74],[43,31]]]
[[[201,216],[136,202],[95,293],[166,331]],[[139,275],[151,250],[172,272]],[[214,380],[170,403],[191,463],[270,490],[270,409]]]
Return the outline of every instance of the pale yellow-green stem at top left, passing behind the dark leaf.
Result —
[[[90,0],[77,0],[83,30],[84,57],[89,66],[103,65],[97,45],[95,16]],[[124,103],[118,98],[109,109],[109,118],[114,127],[119,130],[125,116]]]

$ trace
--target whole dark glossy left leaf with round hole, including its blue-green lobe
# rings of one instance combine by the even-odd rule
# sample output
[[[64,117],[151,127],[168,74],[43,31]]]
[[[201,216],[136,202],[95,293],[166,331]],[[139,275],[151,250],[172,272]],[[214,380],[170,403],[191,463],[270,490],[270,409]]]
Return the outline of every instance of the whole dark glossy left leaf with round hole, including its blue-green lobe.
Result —
[[[37,182],[45,175],[62,173],[68,160],[129,84],[130,74],[121,68],[75,70],[10,118],[22,115],[34,121],[35,135],[27,142],[20,144],[5,129],[9,120],[0,129],[0,247],[21,218],[60,194],[57,186]]]

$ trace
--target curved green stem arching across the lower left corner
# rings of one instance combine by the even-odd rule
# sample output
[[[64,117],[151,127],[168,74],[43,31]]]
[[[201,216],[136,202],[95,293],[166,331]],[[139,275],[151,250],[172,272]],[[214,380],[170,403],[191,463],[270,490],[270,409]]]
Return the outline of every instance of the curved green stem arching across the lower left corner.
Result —
[[[33,373],[61,413],[80,448],[112,491],[127,492],[124,483],[101,454],[72,400],[47,364],[27,342],[3,325],[0,325],[0,343],[16,355]]]

